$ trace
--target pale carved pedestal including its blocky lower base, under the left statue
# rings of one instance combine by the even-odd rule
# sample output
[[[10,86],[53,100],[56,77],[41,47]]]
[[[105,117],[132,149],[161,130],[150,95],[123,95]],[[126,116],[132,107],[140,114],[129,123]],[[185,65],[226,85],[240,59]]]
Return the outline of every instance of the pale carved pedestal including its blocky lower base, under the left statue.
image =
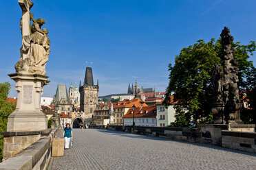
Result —
[[[47,76],[14,73],[9,75],[16,82],[18,101],[16,110],[10,114],[7,132],[3,132],[3,160],[22,151],[47,134],[47,117],[41,112],[43,86]]]

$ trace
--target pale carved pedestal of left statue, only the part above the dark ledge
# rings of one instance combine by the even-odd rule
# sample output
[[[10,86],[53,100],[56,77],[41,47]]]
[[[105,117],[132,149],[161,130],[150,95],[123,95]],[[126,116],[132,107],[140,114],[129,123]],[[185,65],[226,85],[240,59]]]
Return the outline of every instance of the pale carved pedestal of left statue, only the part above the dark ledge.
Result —
[[[8,132],[41,131],[47,129],[47,117],[41,112],[43,86],[48,84],[45,75],[9,75],[16,82],[18,101],[16,110],[8,117]]]

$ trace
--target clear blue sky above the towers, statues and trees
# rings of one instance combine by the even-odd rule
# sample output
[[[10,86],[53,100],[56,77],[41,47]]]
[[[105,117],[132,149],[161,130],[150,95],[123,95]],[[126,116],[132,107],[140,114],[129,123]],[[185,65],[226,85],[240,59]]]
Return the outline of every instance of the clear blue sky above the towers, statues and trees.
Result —
[[[224,26],[235,41],[256,40],[255,0],[32,0],[34,18],[43,18],[49,31],[51,53],[45,97],[56,93],[57,84],[83,81],[85,62],[93,62],[99,95],[126,93],[128,83],[168,85],[168,64],[180,49],[202,38],[219,38]],[[1,1],[0,82],[12,84],[19,60],[21,8],[17,0]],[[255,60],[255,56],[250,58]],[[255,65],[255,63],[254,63]]]

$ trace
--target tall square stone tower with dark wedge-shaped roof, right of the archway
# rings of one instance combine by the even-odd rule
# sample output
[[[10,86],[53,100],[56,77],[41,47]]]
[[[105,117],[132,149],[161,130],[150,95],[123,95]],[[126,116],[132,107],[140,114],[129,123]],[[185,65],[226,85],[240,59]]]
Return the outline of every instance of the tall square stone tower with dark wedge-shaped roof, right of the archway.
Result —
[[[98,83],[94,85],[92,67],[87,66],[83,86],[79,87],[80,111],[85,112],[87,118],[92,118],[96,104],[98,104]]]

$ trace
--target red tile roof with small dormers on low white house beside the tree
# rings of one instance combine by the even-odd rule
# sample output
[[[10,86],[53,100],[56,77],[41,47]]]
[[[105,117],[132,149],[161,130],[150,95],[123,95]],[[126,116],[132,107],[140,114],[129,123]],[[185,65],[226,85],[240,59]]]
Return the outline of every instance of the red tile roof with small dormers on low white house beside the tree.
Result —
[[[127,111],[127,114],[123,118],[132,117],[156,117],[156,106],[144,106],[142,108],[135,108],[134,112],[132,108]]]

